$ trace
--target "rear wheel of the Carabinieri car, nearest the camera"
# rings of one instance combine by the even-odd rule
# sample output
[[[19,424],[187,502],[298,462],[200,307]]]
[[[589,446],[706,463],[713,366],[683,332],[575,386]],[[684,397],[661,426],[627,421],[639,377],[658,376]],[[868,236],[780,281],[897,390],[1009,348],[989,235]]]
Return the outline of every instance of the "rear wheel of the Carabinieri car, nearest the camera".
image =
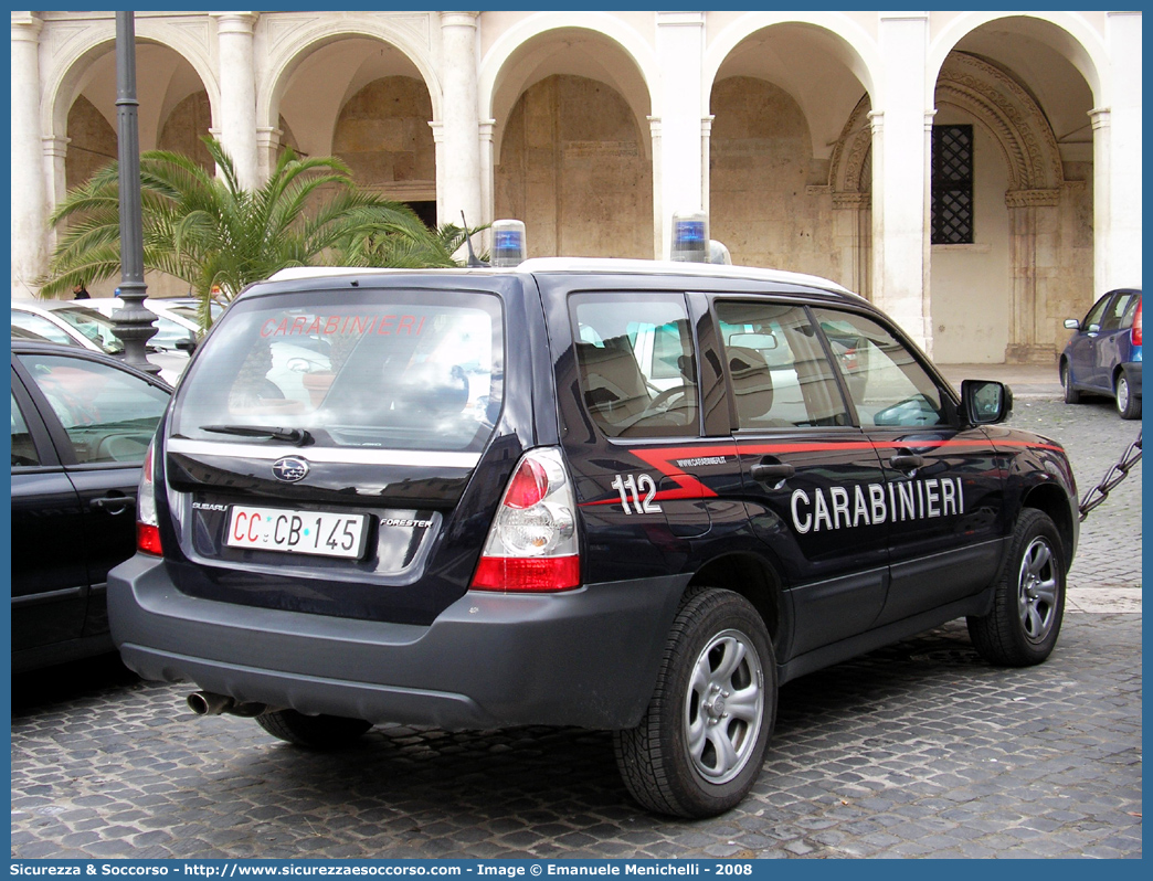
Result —
[[[715,816],[752,789],[777,711],[777,669],[764,622],[739,594],[686,594],[656,691],[613,747],[625,786],[650,811]]]

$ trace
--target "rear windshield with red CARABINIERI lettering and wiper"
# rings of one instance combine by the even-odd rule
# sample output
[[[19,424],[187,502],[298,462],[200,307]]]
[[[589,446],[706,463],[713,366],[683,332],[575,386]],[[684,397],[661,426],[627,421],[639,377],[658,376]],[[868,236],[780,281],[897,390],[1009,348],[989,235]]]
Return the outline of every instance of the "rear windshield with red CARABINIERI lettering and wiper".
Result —
[[[273,427],[323,446],[480,452],[503,363],[500,302],[488,294],[241,299],[181,382],[172,431],[243,440],[246,428]]]

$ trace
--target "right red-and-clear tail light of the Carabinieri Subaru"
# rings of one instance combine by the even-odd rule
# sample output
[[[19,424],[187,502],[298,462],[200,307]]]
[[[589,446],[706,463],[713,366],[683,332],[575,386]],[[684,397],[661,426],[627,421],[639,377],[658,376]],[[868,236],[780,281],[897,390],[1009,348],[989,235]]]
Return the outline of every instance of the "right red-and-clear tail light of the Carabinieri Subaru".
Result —
[[[568,590],[580,586],[576,500],[560,451],[521,457],[489,527],[474,590]]]

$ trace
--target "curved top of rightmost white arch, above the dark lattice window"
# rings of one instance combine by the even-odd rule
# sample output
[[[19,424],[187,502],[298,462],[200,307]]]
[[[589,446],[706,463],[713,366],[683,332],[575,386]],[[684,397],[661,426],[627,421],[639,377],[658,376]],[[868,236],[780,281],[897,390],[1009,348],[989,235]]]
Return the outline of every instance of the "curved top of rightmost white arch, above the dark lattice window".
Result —
[[[962,38],[985,24],[1003,18],[1024,18],[1047,25],[1034,36],[1064,55],[1085,77],[1093,92],[1094,106],[1109,105],[1111,88],[1108,51],[1100,35],[1077,13],[963,13],[949,22],[929,45],[925,71],[927,88],[932,91],[936,85],[949,53]]]

